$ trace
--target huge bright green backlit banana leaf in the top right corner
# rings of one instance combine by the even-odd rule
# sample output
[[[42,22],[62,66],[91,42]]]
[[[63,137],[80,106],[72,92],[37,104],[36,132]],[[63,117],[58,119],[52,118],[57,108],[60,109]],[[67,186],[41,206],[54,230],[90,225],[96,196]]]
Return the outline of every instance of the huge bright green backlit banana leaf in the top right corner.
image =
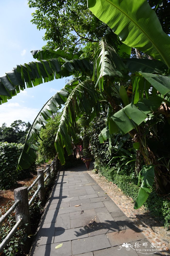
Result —
[[[146,0],[88,0],[88,8],[124,44],[146,52],[170,67],[170,38]]]

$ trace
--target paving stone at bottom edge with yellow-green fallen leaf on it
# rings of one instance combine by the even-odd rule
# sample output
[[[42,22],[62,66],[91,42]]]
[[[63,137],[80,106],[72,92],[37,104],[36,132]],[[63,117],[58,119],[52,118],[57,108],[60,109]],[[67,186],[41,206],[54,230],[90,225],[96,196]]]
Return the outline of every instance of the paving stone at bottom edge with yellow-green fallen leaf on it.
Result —
[[[71,241],[63,242],[63,245],[57,250],[55,247],[60,243],[52,243],[47,245],[36,246],[33,255],[41,256],[71,256]]]

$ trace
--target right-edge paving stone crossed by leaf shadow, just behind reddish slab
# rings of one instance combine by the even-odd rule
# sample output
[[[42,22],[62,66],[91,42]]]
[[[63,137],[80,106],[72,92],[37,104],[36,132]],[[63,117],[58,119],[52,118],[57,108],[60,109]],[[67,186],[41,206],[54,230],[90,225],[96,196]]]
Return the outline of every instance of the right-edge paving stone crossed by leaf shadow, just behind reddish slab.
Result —
[[[134,225],[134,222],[131,221],[129,218],[127,218],[126,215],[122,211],[112,212],[111,216],[116,221],[116,223],[120,227],[120,229],[127,229],[127,228],[136,227]]]

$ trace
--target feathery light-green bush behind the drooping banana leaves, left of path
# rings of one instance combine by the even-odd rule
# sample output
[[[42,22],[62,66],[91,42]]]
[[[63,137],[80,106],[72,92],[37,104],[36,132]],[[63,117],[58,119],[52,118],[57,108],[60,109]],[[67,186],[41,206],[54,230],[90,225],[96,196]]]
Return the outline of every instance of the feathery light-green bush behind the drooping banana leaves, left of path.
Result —
[[[61,113],[56,113],[54,118],[50,119],[46,124],[45,129],[40,131],[40,146],[38,152],[40,156],[45,157],[45,159],[53,159],[56,156],[56,149],[54,146],[55,137],[58,131],[59,121]],[[40,159],[40,156],[38,157]],[[36,160],[37,164],[38,159]]]

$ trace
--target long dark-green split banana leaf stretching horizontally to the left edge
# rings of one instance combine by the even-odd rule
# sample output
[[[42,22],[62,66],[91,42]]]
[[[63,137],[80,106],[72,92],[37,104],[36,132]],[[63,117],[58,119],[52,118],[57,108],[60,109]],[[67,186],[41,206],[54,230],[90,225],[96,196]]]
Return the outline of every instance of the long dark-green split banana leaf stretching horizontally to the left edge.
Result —
[[[47,55],[50,55],[50,51],[47,52]],[[43,54],[46,54],[45,50],[43,50]],[[38,52],[34,56],[36,55],[38,55]],[[59,79],[70,75],[77,76],[77,74],[84,77],[87,75],[92,76],[93,65],[88,63],[87,60],[71,60],[71,55],[68,57],[67,53],[64,55],[64,51],[60,50],[55,51],[53,56],[56,58],[17,65],[17,68],[0,77],[0,104],[7,102],[12,96],[17,95],[20,90],[24,90],[25,83],[26,87],[30,88],[43,83],[43,80],[48,82],[54,80],[54,78]],[[74,58],[75,56],[72,57]]]

